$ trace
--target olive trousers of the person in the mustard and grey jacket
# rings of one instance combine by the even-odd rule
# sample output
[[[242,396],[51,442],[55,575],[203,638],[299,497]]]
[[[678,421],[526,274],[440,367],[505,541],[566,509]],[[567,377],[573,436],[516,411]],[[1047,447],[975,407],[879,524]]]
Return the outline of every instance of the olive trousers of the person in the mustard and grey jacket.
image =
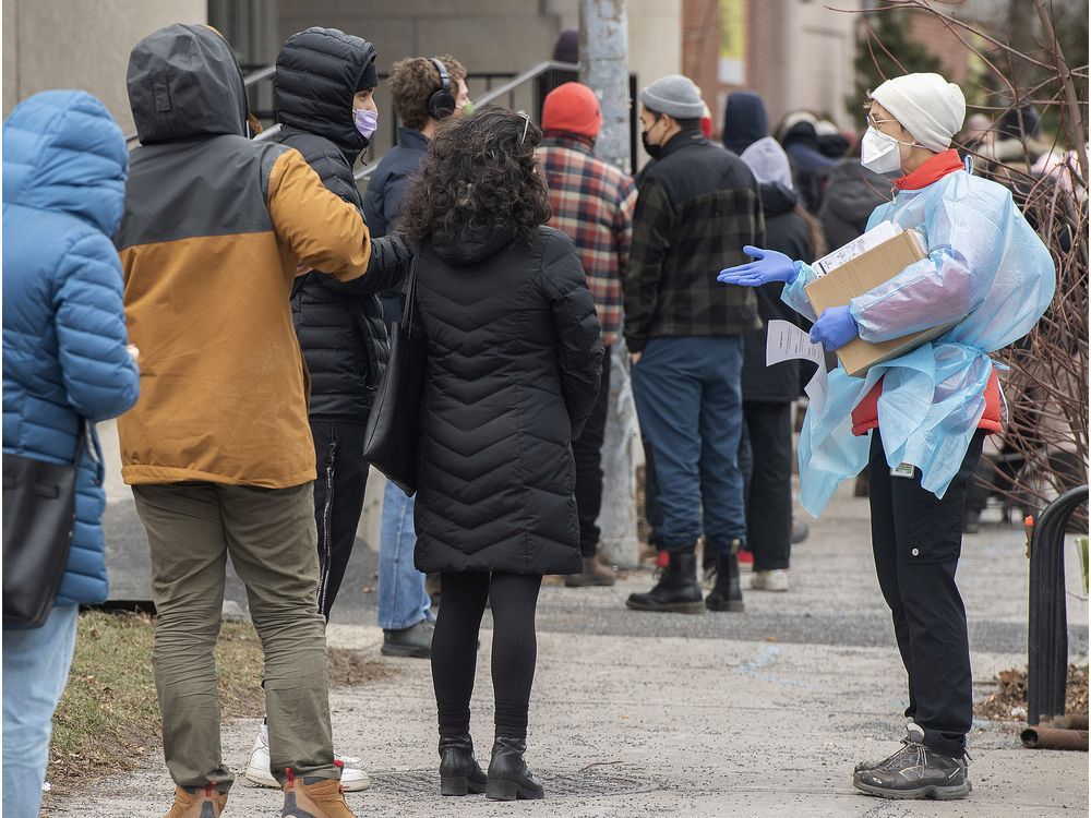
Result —
[[[247,586],[265,652],[273,774],[339,779],[329,725],[325,619],[312,484],[259,489],[191,482],[133,486],[152,551],[152,664],[167,769],[179,786],[233,781],[220,757],[213,648],[227,555]],[[230,669],[226,669],[230,673]]]

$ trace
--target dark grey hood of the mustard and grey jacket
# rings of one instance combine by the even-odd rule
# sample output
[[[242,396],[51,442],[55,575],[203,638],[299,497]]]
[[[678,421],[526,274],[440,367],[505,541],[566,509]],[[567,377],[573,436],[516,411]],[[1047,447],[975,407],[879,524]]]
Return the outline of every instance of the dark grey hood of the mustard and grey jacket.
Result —
[[[142,144],[247,133],[247,94],[231,47],[208,26],[175,23],[129,55],[129,107]]]

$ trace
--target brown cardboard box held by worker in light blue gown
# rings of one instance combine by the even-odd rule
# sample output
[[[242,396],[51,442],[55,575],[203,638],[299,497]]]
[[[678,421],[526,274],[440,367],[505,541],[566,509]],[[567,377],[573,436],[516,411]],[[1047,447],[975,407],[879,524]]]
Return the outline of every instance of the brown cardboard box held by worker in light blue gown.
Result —
[[[920,236],[914,230],[902,230],[892,239],[812,281],[804,291],[815,313],[822,315],[831,306],[844,306],[856,296],[888,281],[926,256]],[[854,377],[863,377],[875,364],[903,356],[943,335],[951,326],[933,327],[882,344],[868,344],[862,338],[853,338],[837,350],[837,357],[846,372]]]

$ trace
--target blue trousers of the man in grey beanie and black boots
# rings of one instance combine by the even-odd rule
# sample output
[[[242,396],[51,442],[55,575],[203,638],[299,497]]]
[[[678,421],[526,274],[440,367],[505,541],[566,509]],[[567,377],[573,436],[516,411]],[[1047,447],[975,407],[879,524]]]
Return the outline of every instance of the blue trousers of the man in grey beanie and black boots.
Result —
[[[712,553],[746,542],[742,434],[742,337],[652,338],[633,366],[640,431],[659,483],[660,548]]]

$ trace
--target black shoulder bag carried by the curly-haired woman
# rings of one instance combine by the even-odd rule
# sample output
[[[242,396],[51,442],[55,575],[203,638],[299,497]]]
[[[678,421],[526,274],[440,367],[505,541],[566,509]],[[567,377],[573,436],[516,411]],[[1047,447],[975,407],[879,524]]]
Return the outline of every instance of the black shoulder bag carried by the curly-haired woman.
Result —
[[[417,493],[420,402],[424,390],[428,347],[417,325],[417,263],[406,285],[401,321],[391,333],[391,358],[368,418],[363,456],[408,496]]]

